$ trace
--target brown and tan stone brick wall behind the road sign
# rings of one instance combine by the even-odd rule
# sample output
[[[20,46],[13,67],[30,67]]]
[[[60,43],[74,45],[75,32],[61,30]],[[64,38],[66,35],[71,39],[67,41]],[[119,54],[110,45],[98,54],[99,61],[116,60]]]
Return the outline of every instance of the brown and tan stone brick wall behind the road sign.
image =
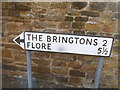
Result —
[[[23,31],[112,36],[111,57],[106,57],[101,88],[118,88],[117,2],[3,2],[3,87],[27,87],[25,51],[13,42]],[[98,57],[32,51],[33,86],[37,88],[92,88]]]

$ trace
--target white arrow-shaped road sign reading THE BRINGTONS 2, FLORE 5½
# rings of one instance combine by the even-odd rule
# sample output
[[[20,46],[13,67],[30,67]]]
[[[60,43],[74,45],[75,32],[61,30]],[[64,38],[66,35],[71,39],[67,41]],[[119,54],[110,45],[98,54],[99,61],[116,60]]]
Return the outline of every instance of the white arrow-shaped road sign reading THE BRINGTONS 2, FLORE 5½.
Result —
[[[110,56],[113,38],[23,32],[13,41],[25,50]]]

